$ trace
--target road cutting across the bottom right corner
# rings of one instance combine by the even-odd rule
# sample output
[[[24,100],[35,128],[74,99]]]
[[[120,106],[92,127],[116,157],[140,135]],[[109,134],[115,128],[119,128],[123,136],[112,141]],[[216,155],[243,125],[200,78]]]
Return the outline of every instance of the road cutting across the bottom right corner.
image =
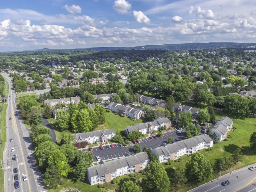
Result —
[[[251,166],[234,170],[231,174],[226,174],[189,192],[256,192],[256,170],[249,170]],[[222,186],[221,183],[226,180],[229,180],[230,184]]]

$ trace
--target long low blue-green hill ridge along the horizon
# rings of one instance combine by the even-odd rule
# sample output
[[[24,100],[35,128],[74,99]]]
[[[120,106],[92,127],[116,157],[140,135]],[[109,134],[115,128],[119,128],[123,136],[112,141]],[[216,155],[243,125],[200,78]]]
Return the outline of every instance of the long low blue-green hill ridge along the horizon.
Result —
[[[183,44],[164,44],[164,45],[144,45],[136,47],[92,47],[92,48],[75,48],[75,49],[36,49],[26,51],[56,51],[56,50],[131,50],[131,49],[158,49],[158,50],[201,50],[201,49],[218,49],[218,48],[256,48],[256,43],[232,43],[232,42],[210,42],[210,43],[183,43]]]

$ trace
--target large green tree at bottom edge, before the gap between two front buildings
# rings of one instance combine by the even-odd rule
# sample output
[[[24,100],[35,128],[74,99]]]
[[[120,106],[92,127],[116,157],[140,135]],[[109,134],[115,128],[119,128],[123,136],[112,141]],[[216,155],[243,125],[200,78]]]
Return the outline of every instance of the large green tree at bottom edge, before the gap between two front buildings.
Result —
[[[170,189],[169,177],[164,166],[156,161],[150,161],[145,168],[142,184],[145,187],[144,191],[168,192]]]

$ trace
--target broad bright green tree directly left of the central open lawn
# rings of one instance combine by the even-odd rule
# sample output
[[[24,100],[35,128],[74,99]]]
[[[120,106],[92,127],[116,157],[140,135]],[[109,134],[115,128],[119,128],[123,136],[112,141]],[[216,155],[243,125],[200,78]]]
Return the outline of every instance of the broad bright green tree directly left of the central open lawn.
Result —
[[[90,114],[86,109],[75,110],[71,118],[72,132],[88,132],[93,130]]]

